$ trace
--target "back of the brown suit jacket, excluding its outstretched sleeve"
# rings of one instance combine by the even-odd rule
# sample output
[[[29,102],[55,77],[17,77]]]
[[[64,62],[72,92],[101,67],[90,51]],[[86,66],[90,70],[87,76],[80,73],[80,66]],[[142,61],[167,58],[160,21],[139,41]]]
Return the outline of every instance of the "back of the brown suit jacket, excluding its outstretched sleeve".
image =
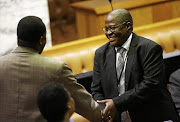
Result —
[[[36,95],[39,88],[50,80],[57,81],[63,62],[55,62],[33,50],[18,48],[0,58],[0,120],[19,118],[32,121],[39,118]],[[7,111],[7,112],[6,112]]]

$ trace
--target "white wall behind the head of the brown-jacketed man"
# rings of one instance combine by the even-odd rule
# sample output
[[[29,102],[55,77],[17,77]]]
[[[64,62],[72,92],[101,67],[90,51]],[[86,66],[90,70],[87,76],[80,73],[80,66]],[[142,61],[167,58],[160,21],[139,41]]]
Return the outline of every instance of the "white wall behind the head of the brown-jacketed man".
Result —
[[[17,24],[25,16],[38,16],[46,25],[47,44],[52,46],[47,0],[0,0],[0,56],[17,46]]]

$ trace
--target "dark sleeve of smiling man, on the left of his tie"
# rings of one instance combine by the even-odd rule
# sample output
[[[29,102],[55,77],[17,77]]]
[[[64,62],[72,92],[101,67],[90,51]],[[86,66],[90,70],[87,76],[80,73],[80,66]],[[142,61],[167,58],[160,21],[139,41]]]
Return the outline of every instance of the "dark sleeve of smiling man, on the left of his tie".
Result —
[[[98,53],[98,50],[95,52],[94,57],[94,67],[93,67],[93,82],[91,84],[91,92],[94,100],[103,100],[104,99],[104,93],[101,86],[101,73],[100,73],[100,55]],[[103,109],[105,106],[100,105],[100,108]]]

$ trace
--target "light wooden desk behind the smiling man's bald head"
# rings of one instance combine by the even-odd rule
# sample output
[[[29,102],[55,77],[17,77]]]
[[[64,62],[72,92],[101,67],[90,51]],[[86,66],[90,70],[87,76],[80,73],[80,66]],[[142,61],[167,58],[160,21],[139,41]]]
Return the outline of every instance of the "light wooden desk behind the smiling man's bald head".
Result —
[[[113,8],[125,8],[133,17],[134,27],[180,17],[179,0],[112,0]],[[76,13],[78,38],[102,34],[111,5],[108,0],[90,0],[71,4]]]

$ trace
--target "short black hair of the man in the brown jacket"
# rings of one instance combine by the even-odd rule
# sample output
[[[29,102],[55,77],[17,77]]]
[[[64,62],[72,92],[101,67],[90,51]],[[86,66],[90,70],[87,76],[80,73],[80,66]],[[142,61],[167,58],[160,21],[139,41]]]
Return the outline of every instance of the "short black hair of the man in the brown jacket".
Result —
[[[18,39],[28,42],[37,42],[46,33],[43,21],[37,16],[26,16],[22,18],[17,26]]]

